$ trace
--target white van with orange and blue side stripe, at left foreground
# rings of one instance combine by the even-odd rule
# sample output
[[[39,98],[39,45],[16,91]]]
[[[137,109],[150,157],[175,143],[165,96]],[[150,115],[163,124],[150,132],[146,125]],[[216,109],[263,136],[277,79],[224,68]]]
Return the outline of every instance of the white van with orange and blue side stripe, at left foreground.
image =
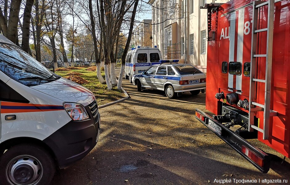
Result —
[[[99,137],[88,89],[52,73],[0,35],[0,184],[45,185]]]

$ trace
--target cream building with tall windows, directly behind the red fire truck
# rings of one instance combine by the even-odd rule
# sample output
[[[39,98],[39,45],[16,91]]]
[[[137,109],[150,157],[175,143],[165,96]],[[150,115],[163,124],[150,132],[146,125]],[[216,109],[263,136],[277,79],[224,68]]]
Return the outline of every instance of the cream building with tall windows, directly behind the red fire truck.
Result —
[[[180,59],[206,72],[207,10],[205,3],[229,0],[149,0],[152,5],[152,43],[164,59]]]

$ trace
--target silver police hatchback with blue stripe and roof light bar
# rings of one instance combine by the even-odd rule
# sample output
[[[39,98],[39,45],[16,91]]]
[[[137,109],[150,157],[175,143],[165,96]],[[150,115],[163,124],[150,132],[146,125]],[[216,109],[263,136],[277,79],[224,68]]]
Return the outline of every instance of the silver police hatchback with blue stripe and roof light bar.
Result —
[[[132,81],[138,91],[144,88],[158,89],[164,91],[168,98],[174,98],[180,92],[190,91],[197,95],[205,89],[205,74],[193,65],[163,62],[160,60],[160,64],[133,76]]]

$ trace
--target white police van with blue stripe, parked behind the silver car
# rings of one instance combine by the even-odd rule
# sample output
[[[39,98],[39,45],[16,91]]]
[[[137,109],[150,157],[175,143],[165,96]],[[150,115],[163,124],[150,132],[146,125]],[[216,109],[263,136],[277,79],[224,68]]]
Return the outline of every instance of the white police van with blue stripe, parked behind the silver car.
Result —
[[[133,75],[142,74],[151,65],[160,64],[159,60],[162,56],[157,46],[132,48],[126,55],[125,79],[130,79],[132,83]]]

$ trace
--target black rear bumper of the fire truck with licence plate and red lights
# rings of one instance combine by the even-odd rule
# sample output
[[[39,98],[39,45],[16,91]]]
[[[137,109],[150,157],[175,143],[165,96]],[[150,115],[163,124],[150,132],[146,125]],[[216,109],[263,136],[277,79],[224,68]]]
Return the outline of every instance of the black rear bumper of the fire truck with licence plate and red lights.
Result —
[[[234,150],[241,154],[246,160],[251,162],[261,172],[267,173],[270,169],[270,156],[253,146],[251,143],[243,139],[241,136],[230,130],[222,123],[213,119],[213,117],[204,113],[200,109],[196,109],[196,118],[219,138],[230,145]]]

